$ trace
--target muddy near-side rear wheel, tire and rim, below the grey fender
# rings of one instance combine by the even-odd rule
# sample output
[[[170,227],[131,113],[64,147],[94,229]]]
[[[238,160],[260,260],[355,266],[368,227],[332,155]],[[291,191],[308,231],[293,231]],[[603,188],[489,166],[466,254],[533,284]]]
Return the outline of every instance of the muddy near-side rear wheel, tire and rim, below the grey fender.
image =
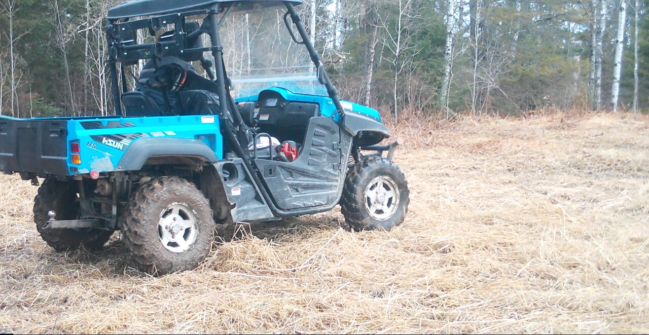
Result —
[[[210,202],[178,177],[143,184],[130,199],[122,229],[136,267],[154,275],[195,269],[215,233]]]

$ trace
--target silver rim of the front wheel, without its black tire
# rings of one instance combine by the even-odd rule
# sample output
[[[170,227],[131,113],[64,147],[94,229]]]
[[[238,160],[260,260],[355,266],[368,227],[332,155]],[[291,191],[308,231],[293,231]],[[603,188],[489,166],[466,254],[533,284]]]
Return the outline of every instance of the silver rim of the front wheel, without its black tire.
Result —
[[[387,176],[372,179],[365,188],[365,208],[378,221],[386,221],[397,212],[399,192],[394,180]]]

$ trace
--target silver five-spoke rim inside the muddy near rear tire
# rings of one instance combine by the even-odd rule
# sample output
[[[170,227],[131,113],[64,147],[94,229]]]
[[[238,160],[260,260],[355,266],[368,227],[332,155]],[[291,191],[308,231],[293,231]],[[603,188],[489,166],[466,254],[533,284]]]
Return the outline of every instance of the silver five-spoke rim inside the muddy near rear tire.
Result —
[[[199,235],[197,214],[186,203],[172,203],[160,212],[158,236],[172,253],[184,253]]]

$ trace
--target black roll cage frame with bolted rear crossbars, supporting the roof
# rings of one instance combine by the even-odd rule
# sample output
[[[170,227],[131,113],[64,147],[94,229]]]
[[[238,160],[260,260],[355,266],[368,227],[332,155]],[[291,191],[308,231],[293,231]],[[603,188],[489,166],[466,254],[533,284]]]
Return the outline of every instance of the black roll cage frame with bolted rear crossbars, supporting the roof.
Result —
[[[287,12],[284,15],[284,23],[288,29],[293,42],[302,44],[308,50],[310,58],[317,67],[318,80],[326,87],[329,97],[332,99],[334,106],[336,106],[341,120],[345,116],[345,110],[340,103],[340,96],[336,87],[331,82],[330,78],[324,71],[324,66],[321,61],[320,55],[313,47],[313,42],[309,39],[309,35],[302,24],[297,10],[291,1],[278,1],[286,6]],[[161,16],[152,16],[151,18],[138,19],[130,21],[129,18],[115,18],[109,19],[108,25],[104,29],[108,40],[108,63],[111,72],[112,91],[115,103],[115,114],[118,116],[122,114],[121,108],[121,90],[119,89],[119,81],[117,79],[117,63],[121,64],[134,64],[139,60],[153,59],[158,60],[164,56],[182,56],[190,53],[203,53],[211,52],[214,56],[216,78],[215,82],[218,87],[217,95],[220,101],[231,101],[229,92],[228,80],[225,77],[226,69],[225,62],[223,62],[223,45],[221,45],[221,38],[219,36],[219,29],[223,22],[230,14],[230,10],[238,4],[238,1],[231,1],[229,3],[215,3],[206,9],[190,10],[186,12],[178,12],[173,14],[164,14]],[[217,16],[223,13],[221,19]],[[188,32],[186,30],[186,18],[188,16],[202,16],[205,18],[199,30]],[[288,18],[291,18],[293,24],[297,28],[297,32],[302,40],[298,40],[295,32],[291,29]],[[123,20],[120,22],[120,20]],[[170,41],[141,43],[138,44],[136,40],[136,31],[147,30],[151,36],[155,36],[157,32],[165,27],[173,25],[175,32],[174,38]],[[197,38],[201,34],[208,34],[210,36],[211,45],[207,47],[189,47],[188,40]],[[206,69],[207,70],[207,69]],[[122,71],[122,86],[126,88],[125,76]],[[232,110],[230,110],[232,109]],[[239,110],[236,105],[232,103],[224,103],[221,105],[221,112],[223,116],[233,115],[237,119],[241,119]]]

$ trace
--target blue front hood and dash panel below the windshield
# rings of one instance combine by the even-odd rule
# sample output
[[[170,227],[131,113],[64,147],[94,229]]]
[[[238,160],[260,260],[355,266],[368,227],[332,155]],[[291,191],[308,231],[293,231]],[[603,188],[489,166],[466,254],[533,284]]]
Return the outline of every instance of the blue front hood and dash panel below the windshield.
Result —
[[[299,94],[293,93],[285,88],[273,87],[269,88],[270,91],[275,91],[282,95],[286,101],[300,101],[303,103],[317,103],[320,105],[320,115],[326,116],[327,118],[334,117],[334,121],[339,121],[340,116],[334,106],[334,101],[330,97],[323,97],[320,95],[309,95],[309,94]],[[259,99],[259,95],[252,95],[250,97],[241,97],[235,99],[238,103],[248,103],[256,102]],[[356,103],[350,103],[349,101],[341,100],[341,105],[345,108],[345,112],[356,112],[359,114],[365,114],[376,119],[376,121],[381,121],[381,116],[378,114],[378,110],[372,108],[358,105]]]

